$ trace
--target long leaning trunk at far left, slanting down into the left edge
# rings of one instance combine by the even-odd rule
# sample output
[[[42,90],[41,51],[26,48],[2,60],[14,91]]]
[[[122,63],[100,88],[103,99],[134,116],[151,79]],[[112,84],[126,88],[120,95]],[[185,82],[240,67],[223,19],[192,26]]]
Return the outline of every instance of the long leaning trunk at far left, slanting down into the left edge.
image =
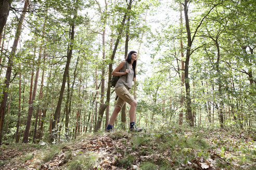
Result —
[[[3,100],[1,102],[0,106],[0,145],[2,145],[2,136],[3,136],[3,126],[4,126],[4,118],[5,118],[5,109],[6,109],[6,102],[7,102],[7,96],[8,96],[8,89],[9,89],[9,84],[10,84],[10,77],[11,77],[11,68],[12,68],[12,60],[14,60],[14,56],[16,53],[20,33],[21,33],[21,27],[22,27],[22,22],[24,20],[24,16],[27,10],[27,7],[29,5],[29,0],[26,0],[24,3],[23,11],[21,13],[21,17],[19,19],[19,23],[17,26],[16,34],[15,34],[15,39],[14,39],[14,44],[12,45],[11,48],[11,53],[9,56],[9,61],[7,64],[7,70],[6,70],[6,75],[5,75],[5,86],[4,86],[4,91],[3,91]]]

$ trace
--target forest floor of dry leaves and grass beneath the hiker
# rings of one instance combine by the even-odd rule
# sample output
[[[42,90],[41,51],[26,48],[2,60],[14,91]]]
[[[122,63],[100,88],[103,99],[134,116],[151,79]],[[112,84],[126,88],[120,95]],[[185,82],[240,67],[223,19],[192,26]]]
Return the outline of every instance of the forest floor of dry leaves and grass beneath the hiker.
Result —
[[[0,169],[256,169],[256,132],[96,133],[60,145],[0,146]]]

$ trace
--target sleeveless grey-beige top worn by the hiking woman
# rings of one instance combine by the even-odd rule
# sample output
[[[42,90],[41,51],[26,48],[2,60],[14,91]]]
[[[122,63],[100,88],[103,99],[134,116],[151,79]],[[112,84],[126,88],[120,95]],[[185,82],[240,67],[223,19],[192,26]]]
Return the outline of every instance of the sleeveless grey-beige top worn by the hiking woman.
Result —
[[[127,61],[125,61],[127,62]],[[127,81],[126,80],[126,75],[123,75],[119,78],[117,84],[115,87],[120,87],[120,86],[126,86],[127,88],[131,89],[132,88],[132,83],[133,83],[133,69],[129,66],[129,68],[126,68],[126,63],[124,63],[123,68],[121,68],[120,72],[124,72],[125,69],[129,69],[129,73],[127,73]]]

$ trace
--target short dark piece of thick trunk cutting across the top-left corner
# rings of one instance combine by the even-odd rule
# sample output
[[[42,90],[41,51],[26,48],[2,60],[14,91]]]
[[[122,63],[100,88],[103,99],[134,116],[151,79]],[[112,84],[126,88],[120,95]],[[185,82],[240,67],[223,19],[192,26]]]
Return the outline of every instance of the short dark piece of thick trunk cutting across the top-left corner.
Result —
[[[12,0],[3,0],[0,2],[0,34],[3,33],[4,26],[9,16]]]

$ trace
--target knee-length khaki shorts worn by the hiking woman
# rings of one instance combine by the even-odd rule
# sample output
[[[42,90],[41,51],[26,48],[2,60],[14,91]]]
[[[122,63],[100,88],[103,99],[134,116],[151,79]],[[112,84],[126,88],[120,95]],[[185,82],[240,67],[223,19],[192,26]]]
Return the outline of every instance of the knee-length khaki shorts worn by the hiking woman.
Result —
[[[116,87],[114,88],[114,91],[118,95],[116,106],[119,106],[120,108],[122,108],[125,102],[131,103],[132,101],[134,101],[134,98],[132,94],[129,93],[129,90],[127,87],[124,87],[124,86]]]

